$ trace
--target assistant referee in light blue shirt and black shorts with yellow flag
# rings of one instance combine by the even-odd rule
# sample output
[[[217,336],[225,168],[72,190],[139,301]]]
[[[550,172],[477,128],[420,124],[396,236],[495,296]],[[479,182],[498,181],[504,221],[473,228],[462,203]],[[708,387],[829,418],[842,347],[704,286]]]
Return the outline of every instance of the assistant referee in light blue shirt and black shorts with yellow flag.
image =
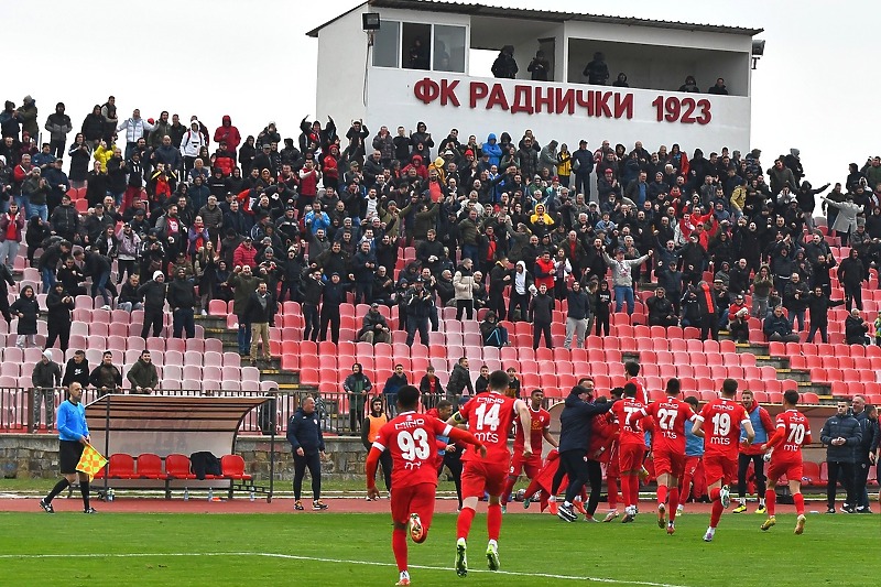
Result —
[[[73,382],[67,400],[58,406],[55,425],[58,428],[58,465],[64,478],[55,483],[48,496],[40,500],[40,507],[46,513],[55,513],[52,500],[55,496],[67,489],[79,476],[79,491],[83,493],[83,512],[96,513],[97,510],[89,506],[89,476],[77,472],[76,466],[83,449],[89,444],[89,427],[86,424],[86,409],[83,399],[83,385]]]

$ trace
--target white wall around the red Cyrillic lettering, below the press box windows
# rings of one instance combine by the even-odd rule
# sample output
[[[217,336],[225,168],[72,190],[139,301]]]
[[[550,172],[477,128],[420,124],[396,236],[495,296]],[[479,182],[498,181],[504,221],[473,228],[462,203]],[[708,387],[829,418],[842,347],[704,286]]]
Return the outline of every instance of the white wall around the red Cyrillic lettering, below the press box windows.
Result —
[[[428,77],[434,81],[442,78],[459,80],[455,94],[460,106],[450,104],[440,106],[439,99],[431,104],[423,104],[414,96],[415,85]],[[532,129],[542,144],[551,139],[565,142],[570,150],[577,149],[578,141],[585,139],[591,149],[597,149],[602,140],[608,139],[612,144],[623,143],[629,149],[638,140],[646,149],[655,150],[659,145],[667,148],[674,142],[679,143],[683,151],[690,156],[695,148],[700,148],[705,153],[718,151],[721,146],[739,149],[746,153],[750,148],[750,99],[739,96],[697,96],[675,91],[655,91],[630,89],[624,94],[633,95],[633,118],[609,119],[588,117],[584,108],[576,108],[574,115],[556,113],[512,113],[499,108],[486,109],[487,98],[479,100],[478,107],[469,107],[469,84],[486,83],[490,88],[500,84],[509,102],[513,105],[514,86],[542,87],[542,88],[573,88],[576,91],[591,89],[581,85],[531,83],[523,80],[498,80],[492,78],[475,78],[456,76],[452,74],[438,75],[431,72],[374,69],[370,75],[369,90],[371,96],[370,108],[366,117],[371,132],[387,124],[390,129],[399,124],[407,130],[415,130],[417,120],[424,120],[435,141],[447,135],[450,128],[458,128],[459,135],[475,134],[478,141],[486,140],[490,132],[497,135],[508,131],[515,141],[522,137],[525,129]],[[613,88],[603,88],[611,90]],[[684,124],[656,120],[655,107],[652,101],[663,97],[677,97],[694,99],[708,99],[710,101],[711,120],[707,124]],[[613,101],[610,101],[613,104]],[[435,154],[436,150],[433,152]]]

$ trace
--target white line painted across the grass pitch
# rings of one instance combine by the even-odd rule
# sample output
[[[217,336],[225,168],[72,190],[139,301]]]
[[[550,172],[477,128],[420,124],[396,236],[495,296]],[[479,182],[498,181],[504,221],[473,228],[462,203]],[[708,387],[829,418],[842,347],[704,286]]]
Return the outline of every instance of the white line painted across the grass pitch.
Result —
[[[0,554],[0,559],[10,558],[141,558],[141,557],[162,557],[162,556],[263,556],[268,558],[283,558],[287,561],[312,561],[315,563],[334,563],[345,565],[362,565],[362,566],[381,566],[381,567],[396,567],[392,563],[382,563],[378,561],[351,561],[347,558],[325,558],[320,556],[300,556],[295,554],[281,554],[281,553],[253,553],[253,552],[231,552],[231,553],[94,553],[94,554]],[[420,568],[424,570],[452,570],[450,567],[428,566],[428,565],[410,565],[411,568]],[[644,580],[622,580],[610,579],[603,577],[579,577],[575,575],[556,575],[553,573],[521,573],[516,570],[488,570],[488,569],[469,569],[469,573],[491,573],[496,575],[507,575],[512,577],[536,577],[544,579],[559,579],[559,580],[580,580],[592,583],[606,583],[611,585],[640,585],[644,587],[687,587],[685,585],[675,585],[670,583],[653,583]]]

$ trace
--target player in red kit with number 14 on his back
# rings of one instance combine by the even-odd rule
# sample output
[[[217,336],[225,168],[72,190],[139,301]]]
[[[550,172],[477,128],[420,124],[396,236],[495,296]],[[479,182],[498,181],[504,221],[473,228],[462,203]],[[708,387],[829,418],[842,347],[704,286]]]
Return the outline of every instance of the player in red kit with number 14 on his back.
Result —
[[[468,533],[475,519],[477,501],[486,491],[489,493],[487,506],[487,562],[490,570],[499,569],[499,533],[502,528],[501,496],[504,481],[511,465],[511,453],[508,452],[508,432],[515,416],[520,425],[529,430],[532,425],[530,409],[522,400],[505,395],[510,380],[504,371],[493,371],[489,376],[489,389],[478,393],[463,405],[458,412],[447,420],[447,424],[468,424],[468,432],[487,446],[487,456],[474,450],[466,450],[461,459],[465,467],[461,474],[461,493],[465,498],[456,523],[456,574],[468,575],[466,556]],[[523,458],[532,456],[532,447],[523,447]],[[394,479],[392,479],[394,485]]]

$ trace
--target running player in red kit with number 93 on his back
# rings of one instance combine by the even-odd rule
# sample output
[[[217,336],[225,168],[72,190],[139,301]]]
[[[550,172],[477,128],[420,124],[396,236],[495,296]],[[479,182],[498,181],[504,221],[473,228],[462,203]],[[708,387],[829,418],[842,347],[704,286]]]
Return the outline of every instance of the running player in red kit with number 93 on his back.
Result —
[[[365,465],[367,496],[377,499],[377,464],[385,450],[392,455],[392,551],[400,574],[395,585],[410,585],[405,534],[407,522],[410,536],[415,543],[425,541],[432,525],[437,489],[437,436],[467,443],[476,447],[481,456],[487,454],[483,444],[471,433],[454,428],[436,417],[417,414],[418,401],[420,390],[413,385],[398,390],[398,416],[380,428]]]

